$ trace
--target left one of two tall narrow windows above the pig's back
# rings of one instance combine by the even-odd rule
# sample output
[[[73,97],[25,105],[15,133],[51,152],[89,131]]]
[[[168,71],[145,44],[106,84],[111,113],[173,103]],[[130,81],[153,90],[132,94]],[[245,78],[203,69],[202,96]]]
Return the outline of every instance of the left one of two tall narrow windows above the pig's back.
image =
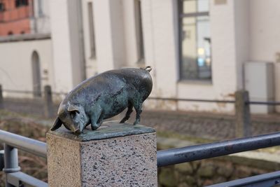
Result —
[[[90,28],[90,57],[96,58],[92,2],[87,3],[87,11]]]

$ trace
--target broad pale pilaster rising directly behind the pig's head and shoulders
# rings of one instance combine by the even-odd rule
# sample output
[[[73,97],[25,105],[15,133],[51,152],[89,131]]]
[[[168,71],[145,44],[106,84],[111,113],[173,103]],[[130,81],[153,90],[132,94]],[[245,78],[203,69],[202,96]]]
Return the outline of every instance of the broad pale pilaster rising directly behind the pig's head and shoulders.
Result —
[[[85,79],[80,1],[49,1],[56,92],[69,92]]]

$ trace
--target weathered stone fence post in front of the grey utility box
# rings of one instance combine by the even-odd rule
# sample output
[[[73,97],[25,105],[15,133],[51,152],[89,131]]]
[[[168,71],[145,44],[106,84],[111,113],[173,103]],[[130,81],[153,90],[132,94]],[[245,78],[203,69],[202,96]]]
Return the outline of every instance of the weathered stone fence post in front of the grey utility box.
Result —
[[[235,137],[251,136],[251,113],[249,94],[246,90],[235,92]]]

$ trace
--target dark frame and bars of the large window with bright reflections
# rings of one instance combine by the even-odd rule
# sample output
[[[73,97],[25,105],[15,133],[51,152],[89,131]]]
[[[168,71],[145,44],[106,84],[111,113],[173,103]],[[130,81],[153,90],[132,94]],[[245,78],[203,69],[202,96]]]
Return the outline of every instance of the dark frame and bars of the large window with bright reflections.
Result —
[[[209,11],[202,11],[202,12],[194,12],[194,13],[183,13],[183,1],[200,1],[200,0],[178,0],[178,39],[179,39],[179,81],[191,81],[191,82],[212,82],[212,53],[211,53],[211,64],[210,64],[210,72],[211,76],[210,78],[203,79],[203,78],[183,78],[183,41],[182,41],[182,36],[183,36],[183,18],[198,18],[200,16],[209,16],[210,18],[210,7]],[[210,0],[209,0],[210,1]],[[210,2],[209,2],[210,3]],[[209,19],[210,20],[210,19]],[[209,21],[210,22],[210,21]],[[211,37],[210,37],[211,40]],[[196,39],[197,43],[197,39]],[[210,43],[210,50],[211,50],[211,43]]]

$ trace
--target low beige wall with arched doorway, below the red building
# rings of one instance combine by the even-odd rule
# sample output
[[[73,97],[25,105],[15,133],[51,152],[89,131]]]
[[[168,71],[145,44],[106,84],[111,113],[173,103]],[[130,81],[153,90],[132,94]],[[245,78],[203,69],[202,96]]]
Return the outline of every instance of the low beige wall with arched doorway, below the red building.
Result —
[[[3,90],[33,91],[32,54],[38,53],[41,88],[53,85],[52,45],[50,39],[0,43],[0,83]],[[33,94],[3,92],[4,97],[33,97]]]

